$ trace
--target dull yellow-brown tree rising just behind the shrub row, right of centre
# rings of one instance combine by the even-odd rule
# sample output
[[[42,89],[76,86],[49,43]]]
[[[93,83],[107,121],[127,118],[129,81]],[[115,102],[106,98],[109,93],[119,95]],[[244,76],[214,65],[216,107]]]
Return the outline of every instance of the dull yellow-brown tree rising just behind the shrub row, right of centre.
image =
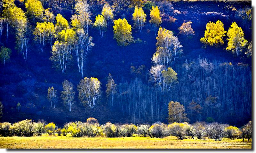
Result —
[[[185,108],[180,102],[170,101],[168,105],[168,122],[186,122],[188,121]]]

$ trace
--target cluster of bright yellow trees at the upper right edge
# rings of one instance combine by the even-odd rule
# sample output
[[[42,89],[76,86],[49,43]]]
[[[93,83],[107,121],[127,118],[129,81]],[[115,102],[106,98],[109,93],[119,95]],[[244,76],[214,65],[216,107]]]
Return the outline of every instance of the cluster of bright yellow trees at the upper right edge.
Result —
[[[248,44],[248,41],[244,38],[244,31],[241,27],[238,27],[236,22],[231,24],[228,32],[225,31],[224,24],[220,20],[216,21],[216,23],[207,23],[206,30],[204,31],[204,37],[201,38],[200,41],[206,45],[217,47],[224,44],[223,38],[226,34],[228,36],[228,45],[226,50],[232,51],[232,53],[237,56],[242,53],[246,45],[248,45],[248,50],[250,50],[251,43]],[[246,54],[247,56],[249,54],[251,55],[249,52],[246,52]]]

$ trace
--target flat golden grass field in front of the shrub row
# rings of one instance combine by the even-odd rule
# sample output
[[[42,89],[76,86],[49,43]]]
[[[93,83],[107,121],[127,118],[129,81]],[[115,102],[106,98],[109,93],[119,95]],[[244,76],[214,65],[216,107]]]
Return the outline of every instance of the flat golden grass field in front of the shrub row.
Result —
[[[174,136],[165,138],[119,137],[119,138],[73,138],[64,136],[0,137],[0,148],[7,149],[251,149],[252,143],[243,143],[241,139],[214,140],[178,140]]]

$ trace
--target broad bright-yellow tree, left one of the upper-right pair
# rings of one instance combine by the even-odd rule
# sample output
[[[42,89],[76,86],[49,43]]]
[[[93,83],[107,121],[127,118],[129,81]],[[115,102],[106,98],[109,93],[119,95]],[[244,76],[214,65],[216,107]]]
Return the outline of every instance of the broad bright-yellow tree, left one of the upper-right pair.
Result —
[[[201,43],[210,45],[210,46],[219,46],[223,45],[223,37],[227,31],[224,30],[223,23],[218,20],[216,23],[208,22],[206,24],[206,30],[204,31],[204,37],[200,39]]]

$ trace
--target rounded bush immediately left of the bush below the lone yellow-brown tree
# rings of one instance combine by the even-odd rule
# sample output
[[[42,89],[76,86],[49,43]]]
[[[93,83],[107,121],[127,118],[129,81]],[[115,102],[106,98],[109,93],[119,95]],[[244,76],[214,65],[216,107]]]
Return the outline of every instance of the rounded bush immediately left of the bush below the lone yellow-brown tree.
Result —
[[[156,122],[150,128],[150,134],[153,138],[163,138],[165,136],[166,125],[164,123]]]

